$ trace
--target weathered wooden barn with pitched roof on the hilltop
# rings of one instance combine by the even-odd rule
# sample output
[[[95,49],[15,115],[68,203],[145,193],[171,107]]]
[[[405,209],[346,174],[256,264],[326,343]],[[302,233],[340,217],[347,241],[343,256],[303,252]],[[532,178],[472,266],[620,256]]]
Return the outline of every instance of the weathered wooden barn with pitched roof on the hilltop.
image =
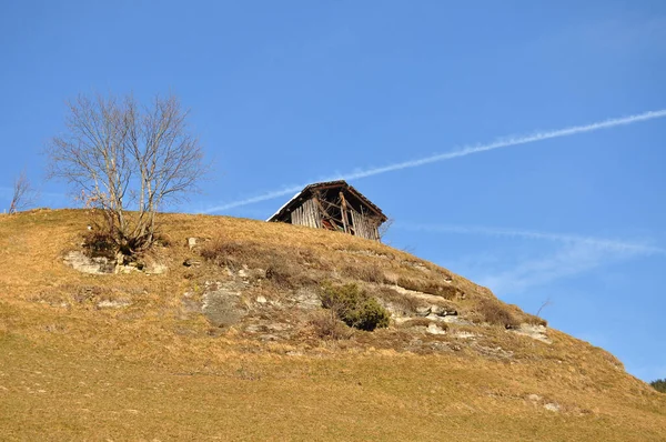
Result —
[[[341,180],[306,185],[268,221],[337,230],[380,241],[379,228],[386,221],[386,215]]]

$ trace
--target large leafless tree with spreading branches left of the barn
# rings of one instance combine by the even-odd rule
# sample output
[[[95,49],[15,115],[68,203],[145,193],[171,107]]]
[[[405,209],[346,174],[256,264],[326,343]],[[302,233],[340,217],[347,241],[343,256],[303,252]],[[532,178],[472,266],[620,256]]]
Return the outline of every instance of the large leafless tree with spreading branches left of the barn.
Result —
[[[173,96],[155,97],[149,107],[132,96],[79,96],[69,103],[65,133],[48,147],[49,175],[103,213],[124,255],[150,248],[158,210],[186,199],[208,169],[186,117]]]

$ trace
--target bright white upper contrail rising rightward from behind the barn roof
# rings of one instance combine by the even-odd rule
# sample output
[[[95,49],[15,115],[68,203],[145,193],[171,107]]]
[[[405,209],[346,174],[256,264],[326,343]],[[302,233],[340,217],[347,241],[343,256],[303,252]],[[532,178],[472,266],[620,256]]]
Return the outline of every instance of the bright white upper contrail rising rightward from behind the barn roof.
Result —
[[[490,144],[467,145],[467,147],[463,147],[458,150],[454,150],[451,152],[437,153],[437,154],[434,154],[431,157],[425,157],[425,158],[410,160],[410,161],[403,161],[403,162],[389,164],[389,165],[384,165],[384,167],[379,167],[379,168],[370,168],[370,169],[365,169],[365,170],[357,171],[357,172],[351,172],[351,173],[346,173],[346,174],[330,177],[325,180],[320,180],[320,181],[356,180],[356,179],[361,179],[361,178],[379,175],[381,173],[393,172],[396,170],[417,168],[420,165],[425,165],[425,164],[430,164],[430,163],[434,163],[434,162],[453,160],[454,158],[466,157],[466,155],[471,155],[473,153],[486,152],[488,150],[508,148],[511,145],[528,144],[528,143],[533,143],[536,141],[549,140],[553,138],[571,137],[571,135],[575,135],[578,133],[595,132],[595,131],[602,130],[602,129],[610,129],[610,128],[615,128],[618,125],[627,125],[627,124],[633,124],[633,123],[637,123],[640,121],[654,120],[654,119],[664,118],[664,117],[666,117],[666,109],[637,113],[635,115],[629,115],[629,117],[614,118],[614,119],[598,121],[596,123],[591,123],[591,124],[585,124],[585,125],[573,125],[571,128],[565,128],[565,129],[557,129],[557,130],[552,130],[552,131],[546,131],[546,132],[537,132],[537,133],[534,133],[531,135],[500,139]],[[246,198],[243,200],[229,202],[226,204],[206,209],[204,211],[204,213],[219,212],[222,210],[238,208],[241,205],[253,204],[255,202],[272,200],[274,198],[283,197],[285,194],[292,194],[292,193],[301,191],[307,184],[309,183],[305,183],[302,185],[290,185],[290,187],[283,188],[281,190],[273,190],[273,191],[270,191],[266,193],[259,194],[256,197],[251,197],[251,198]]]

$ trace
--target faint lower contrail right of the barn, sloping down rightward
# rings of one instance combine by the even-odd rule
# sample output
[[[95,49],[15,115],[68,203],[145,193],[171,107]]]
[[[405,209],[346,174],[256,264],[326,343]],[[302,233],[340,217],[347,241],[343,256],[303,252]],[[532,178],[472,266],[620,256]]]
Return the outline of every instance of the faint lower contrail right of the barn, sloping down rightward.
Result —
[[[666,249],[658,247],[640,243],[610,240],[595,237],[583,237],[576,234],[562,234],[551,232],[538,232],[533,230],[516,230],[516,229],[501,229],[501,228],[488,228],[488,227],[465,227],[465,225],[450,225],[450,224],[411,224],[411,223],[396,223],[395,228],[423,231],[423,232],[443,232],[443,233],[465,233],[465,234],[484,234],[488,237],[509,237],[509,238],[525,238],[532,240],[546,240],[556,241],[563,243],[577,243],[593,245],[597,249],[615,251],[615,252],[630,252],[639,254],[663,254],[666,255]]]

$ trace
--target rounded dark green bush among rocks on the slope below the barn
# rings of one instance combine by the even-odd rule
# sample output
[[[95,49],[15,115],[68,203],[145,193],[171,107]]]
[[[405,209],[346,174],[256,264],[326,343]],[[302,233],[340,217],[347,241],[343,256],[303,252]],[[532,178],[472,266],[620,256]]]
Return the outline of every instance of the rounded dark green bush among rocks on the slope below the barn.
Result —
[[[389,312],[356,284],[323,284],[321,299],[349,327],[366,331],[389,327]]]

